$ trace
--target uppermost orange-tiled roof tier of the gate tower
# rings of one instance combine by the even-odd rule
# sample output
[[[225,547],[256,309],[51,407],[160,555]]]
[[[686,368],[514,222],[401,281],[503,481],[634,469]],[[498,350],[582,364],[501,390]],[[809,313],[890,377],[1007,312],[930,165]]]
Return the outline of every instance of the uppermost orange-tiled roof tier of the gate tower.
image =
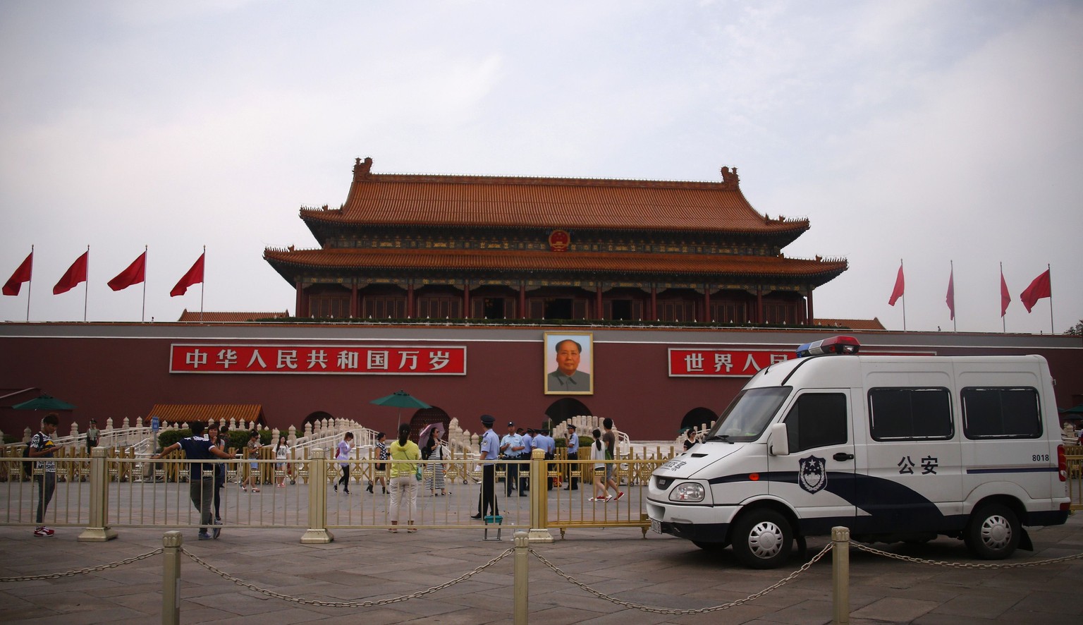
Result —
[[[364,225],[800,233],[807,219],[770,219],[735,182],[355,174],[341,209],[301,209],[306,222]]]

